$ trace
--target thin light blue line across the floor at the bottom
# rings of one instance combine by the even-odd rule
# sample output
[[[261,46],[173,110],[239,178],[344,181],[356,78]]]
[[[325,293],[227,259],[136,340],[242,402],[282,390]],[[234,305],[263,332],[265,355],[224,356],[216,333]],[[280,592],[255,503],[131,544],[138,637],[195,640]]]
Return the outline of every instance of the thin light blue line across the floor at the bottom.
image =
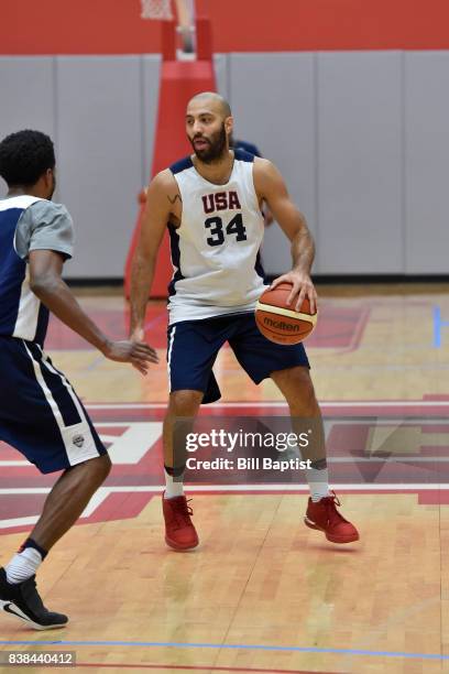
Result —
[[[408,660],[449,660],[449,655],[441,653],[409,653],[404,651],[371,651],[366,649],[331,649],[320,646],[281,646],[249,643],[183,643],[171,641],[7,641],[1,640],[0,645],[58,645],[58,646],[136,646],[158,649],[223,649],[230,651],[274,651],[292,653],[335,653],[337,655],[370,655],[373,657],[406,657]]]

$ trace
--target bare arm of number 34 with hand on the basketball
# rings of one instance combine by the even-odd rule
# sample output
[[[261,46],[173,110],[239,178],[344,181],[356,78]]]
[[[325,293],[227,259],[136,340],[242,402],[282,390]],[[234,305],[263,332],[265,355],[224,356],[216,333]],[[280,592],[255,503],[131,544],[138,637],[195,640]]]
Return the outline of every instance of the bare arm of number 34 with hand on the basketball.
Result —
[[[282,282],[293,284],[288,302],[299,311],[303,300],[308,297],[314,312],[317,293],[310,279],[315,258],[315,243],[306,218],[292,202],[280,171],[267,160],[254,160],[254,186],[260,199],[264,199],[284,233],[292,243],[292,271],[273,281],[272,287]]]

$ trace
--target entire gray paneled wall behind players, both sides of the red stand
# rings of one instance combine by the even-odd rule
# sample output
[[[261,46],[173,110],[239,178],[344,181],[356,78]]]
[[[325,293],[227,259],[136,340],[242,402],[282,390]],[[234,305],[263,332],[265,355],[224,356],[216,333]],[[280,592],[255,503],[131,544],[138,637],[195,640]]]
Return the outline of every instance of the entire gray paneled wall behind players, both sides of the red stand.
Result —
[[[216,56],[236,135],[283,172],[317,241],[315,272],[448,273],[448,52]],[[147,181],[160,57],[0,57],[0,137],[55,139],[73,278],[121,276]],[[0,185],[0,194],[4,185]],[[266,270],[289,265],[277,225]]]

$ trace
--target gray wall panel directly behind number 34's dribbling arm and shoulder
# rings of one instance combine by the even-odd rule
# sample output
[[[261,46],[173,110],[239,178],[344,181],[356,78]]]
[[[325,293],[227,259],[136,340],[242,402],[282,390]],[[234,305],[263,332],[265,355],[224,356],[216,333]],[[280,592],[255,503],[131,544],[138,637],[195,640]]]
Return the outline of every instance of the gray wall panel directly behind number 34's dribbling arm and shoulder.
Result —
[[[229,97],[236,137],[255,143],[278,166],[316,235],[313,54],[231,54]],[[273,274],[292,265],[289,242],[276,224],[266,231],[263,260]]]

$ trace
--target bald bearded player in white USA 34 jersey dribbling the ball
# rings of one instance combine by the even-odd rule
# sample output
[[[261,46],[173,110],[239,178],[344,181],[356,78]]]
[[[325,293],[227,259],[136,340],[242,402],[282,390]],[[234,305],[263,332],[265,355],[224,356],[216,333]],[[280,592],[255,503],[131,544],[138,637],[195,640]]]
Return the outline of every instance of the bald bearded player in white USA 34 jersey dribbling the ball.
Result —
[[[149,186],[131,281],[132,338],[141,341],[157,249],[168,227],[175,273],[169,284],[171,393],[164,421],[165,540],[176,550],[198,544],[183,491],[184,466],[173,463],[172,433],[176,418],[194,418],[201,403],[220,398],[212,366],[229,341],[255,383],[271,377],[277,384],[292,417],[316,420],[319,442],[314,443],[313,469],[306,471],[310,486],[306,524],[336,543],[357,541],[355,528],[338,512],[339,502],[329,492],[322,422],[304,346],[273,344],[254,319],[255,303],[265,289],[259,263],[262,202],[292,241],[293,269],[272,287],[292,283],[292,308],[298,311],[308,297],[314,313],[314,242],[307,224],[271,162],[229,149],[232,116],[223,98],[209,93],[195,96],[187,106],[186,129],[194,154],[162,171]]]

